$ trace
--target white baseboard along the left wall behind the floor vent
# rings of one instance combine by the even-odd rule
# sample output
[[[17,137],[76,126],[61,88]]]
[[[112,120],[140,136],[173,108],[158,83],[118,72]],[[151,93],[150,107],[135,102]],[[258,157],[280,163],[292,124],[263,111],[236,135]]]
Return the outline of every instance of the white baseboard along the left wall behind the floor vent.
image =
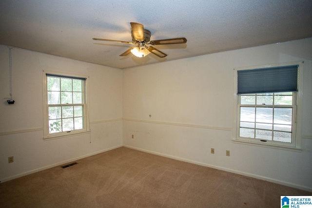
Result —
[[[23,173],[20,173],[20,174],[17,174],[17,175],[8,177],[8,178],[1,179],[0,182],[3,183],[3,182],[6,182],[6,181],[15,179],[15,178],[20,178],[20,177],[25,176],[25,175],[29,175],[29,174],[32,174],[32,173],[35,173],[35,172],[39,172],[39,171],[41,171],[41,170],[46,170],[46,169],[49,169],[49,168],[54,168],[54,167],[63,165],[63,164],[65,164],[65,163],[74,162],[74,161],[76,161],[76,160],[79,160],[79,159],[82,159],[82,158],[85,158],[85,157],[89,157],[89,156],[92,156],[92,155],[95,155],[95,154],[99,154],[99,153],[102,153],[102,152],[105,152],[105,151],[114,150],[114,149],[117,149],[117,148],[119,148],[119,147],[122,147],[122,145],[118,145],[118,146],[115,146],[115,147],[112,147],[112,148],[108,148],[108,149],[105,149],[105,150],[93,152],[93,153],[90,153],[90,154],[85,154],[85,155],[80,156],[80,157],[76,157],[76,158],[72,158],[72,159],[69,159],[69,160],[65,160],[65,161],[62,161],[62,162],[59,162],[59,163],[55,163],[55,164],[53,164],[53,165],[48,165],[48,166],[45,166],[45,167],[42,167],[42,168],[39,168],[39,169],[35,169],[35,170],[30,170],[30,171],[27,171],[27,172],[23,172]]]

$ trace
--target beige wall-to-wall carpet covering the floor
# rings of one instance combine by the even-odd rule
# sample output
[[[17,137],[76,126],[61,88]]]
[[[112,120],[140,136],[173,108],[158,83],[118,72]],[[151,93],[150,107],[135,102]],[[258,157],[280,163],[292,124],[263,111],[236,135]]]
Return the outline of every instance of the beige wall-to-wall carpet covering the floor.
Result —
[[[0,184],[1,208],[278,208],[312,193],[129,148]]]

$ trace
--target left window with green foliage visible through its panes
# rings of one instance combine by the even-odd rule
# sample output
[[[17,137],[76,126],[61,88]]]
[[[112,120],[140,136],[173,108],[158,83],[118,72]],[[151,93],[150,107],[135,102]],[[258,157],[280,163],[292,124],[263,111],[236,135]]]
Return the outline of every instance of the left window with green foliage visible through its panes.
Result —
[[[44,138],[88,132],[86,77],[44,73]]]

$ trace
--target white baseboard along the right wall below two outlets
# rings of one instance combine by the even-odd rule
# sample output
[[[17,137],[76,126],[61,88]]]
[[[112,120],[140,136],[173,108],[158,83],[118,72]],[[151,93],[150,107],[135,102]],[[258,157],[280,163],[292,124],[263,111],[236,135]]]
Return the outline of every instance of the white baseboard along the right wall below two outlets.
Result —
[[[280,180],[276,180],[276,179],[273,179],[273,178],[263,177],[263,176],[260,176],[260,175],[255,175],[255,174],[251,174],[251,173],[247,173],[247,172],[241,172],[241,171],[238,171],[238,170],[223,168],[223,167],[219,167],[219,166],[213,166],[213,165],[209,165],[209,164],[206,164],[206,163],[196,162],[196,161],[193,161],[193,160],[188,160],[188,159],[184,159],[184,158],[180,158],[180,157],[176,157],[176,156],[172,156],[172,155],[168,155],[168,154],[158,153],[158,152],[155,152],[155,151],[148,151],[148,150],[144,150],[144,149],[140,149],[140,148],[136,148],[136,147],[132,147],[132,146],[128,146],[128,145],[123,145],[123,147],[127,147],[127,148],[138,150],[138,151],[144,151],[144,152],[147,152],[147,153],[156,154],[156,155],[159,155],[159,156],[168,157],[168,158],[171,158],[171,159],[175,159],[175,160],[179,160],[179,161],[183,161],[183,162],[187,162],[187,163],[192,163],[192,164],[195,164],[195,165],[200,165],[200,166],[204,166],[204,167],[208,167],[208,168],[213,168],[213,169],[217,169],[217,170],[224,170],[224,171],[227,171],[227,172],[232,172],[232,173],[235,173],[235,174],[244,175],[244,176],[251,177],[251,178],[256,178],[256,179],[259,179],[259,180],[269,181],[269,182],[272,182],[272,183],[275,183],[275,184],[284,185],[284,186],[292,187],[292,188],[295,188],[295,189],[301,189],[301,190],[306,190],[306,191],[312,192],[312,188],[310,188],[310,187],[305,187],[305,186],[301,186],[301,185],[297,185],[297,184],[292,184],[292,183],[289,183],[289,182],[280,181]]]

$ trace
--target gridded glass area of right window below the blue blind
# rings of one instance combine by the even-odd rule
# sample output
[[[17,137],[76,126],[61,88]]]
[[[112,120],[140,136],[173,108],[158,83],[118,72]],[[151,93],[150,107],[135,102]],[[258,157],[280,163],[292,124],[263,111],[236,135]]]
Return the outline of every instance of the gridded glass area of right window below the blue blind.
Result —
[[[295,94],[239,95],[239,137],[292,143]]]

